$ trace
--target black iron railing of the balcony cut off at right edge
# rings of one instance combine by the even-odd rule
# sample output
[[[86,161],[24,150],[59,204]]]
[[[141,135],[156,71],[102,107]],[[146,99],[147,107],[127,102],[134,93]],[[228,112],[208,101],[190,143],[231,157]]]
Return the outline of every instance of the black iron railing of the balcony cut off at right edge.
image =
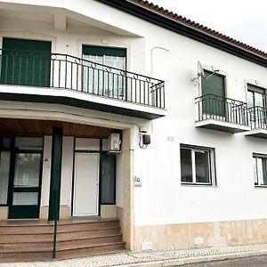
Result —
[[[252,129],[267,129],[267,109],[255,106],[248,109]]]

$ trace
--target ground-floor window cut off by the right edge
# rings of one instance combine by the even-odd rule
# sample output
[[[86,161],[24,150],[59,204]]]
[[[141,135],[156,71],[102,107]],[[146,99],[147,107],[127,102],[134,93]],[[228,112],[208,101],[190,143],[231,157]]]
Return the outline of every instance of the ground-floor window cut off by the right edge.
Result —
[[[253,169],[255,185],[267,186],[267,155],[253,154]]]

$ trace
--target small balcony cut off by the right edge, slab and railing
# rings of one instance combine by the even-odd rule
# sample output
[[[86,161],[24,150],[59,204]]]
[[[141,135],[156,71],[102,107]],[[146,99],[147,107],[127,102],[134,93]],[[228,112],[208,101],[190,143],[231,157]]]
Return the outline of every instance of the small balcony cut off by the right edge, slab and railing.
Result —
[[[263,107],[253,107],[248,109],[251,130],[246,136],[267,139],[267,109]]]

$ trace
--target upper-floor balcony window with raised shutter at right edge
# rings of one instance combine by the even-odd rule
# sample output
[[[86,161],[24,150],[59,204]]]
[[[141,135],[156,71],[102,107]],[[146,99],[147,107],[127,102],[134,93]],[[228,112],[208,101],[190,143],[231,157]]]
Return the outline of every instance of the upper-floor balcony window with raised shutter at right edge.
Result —
[[[250,123],[254,128],[266,128],[267,112],[265,89],[255,86],[247,85],[248,108]]]

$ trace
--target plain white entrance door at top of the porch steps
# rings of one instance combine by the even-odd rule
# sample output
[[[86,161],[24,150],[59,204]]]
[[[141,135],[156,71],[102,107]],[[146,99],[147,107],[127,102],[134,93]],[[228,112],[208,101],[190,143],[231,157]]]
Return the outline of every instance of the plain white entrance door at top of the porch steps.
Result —
[[[76,153],[73,215],[97,215],[99,206],[99,154]]]

